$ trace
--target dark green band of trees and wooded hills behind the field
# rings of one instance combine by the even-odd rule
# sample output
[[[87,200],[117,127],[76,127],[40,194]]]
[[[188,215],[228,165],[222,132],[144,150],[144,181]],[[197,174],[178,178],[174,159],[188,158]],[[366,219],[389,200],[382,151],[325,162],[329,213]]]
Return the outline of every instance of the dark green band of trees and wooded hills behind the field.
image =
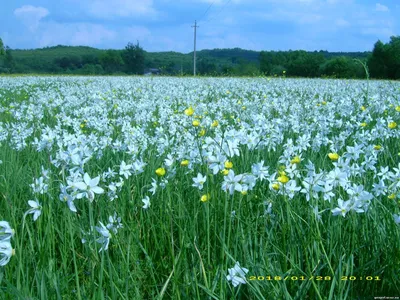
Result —
[[[302,50],[251,51],[240,48],[196,52],[197,75],[290,76],[400,79],[400,36],[386,44],[377,41],[372,52]],[[147,52],[139,43],[122,50],[55,46],[33,50],[10,49],[0,39],[0,73],[132,75],[193,74],[193,52]]]

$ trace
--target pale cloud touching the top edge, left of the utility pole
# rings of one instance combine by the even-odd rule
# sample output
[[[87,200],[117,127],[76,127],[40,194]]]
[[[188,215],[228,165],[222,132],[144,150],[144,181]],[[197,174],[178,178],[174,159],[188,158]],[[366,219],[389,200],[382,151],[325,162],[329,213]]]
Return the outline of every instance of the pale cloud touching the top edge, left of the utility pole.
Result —
[[[113,17],[146,17],[156,14],[153,0],[94,0],[88,1],[90,14],[105,19]]]

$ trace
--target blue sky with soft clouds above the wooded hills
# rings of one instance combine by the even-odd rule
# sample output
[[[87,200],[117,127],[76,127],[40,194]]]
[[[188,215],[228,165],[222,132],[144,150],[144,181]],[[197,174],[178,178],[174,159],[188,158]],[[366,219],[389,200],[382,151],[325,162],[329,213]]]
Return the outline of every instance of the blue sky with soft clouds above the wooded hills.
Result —
[[[14,0],[0,10],[13,49],[85,45],[197,49],[370,51],[400,35],[399,0]]]

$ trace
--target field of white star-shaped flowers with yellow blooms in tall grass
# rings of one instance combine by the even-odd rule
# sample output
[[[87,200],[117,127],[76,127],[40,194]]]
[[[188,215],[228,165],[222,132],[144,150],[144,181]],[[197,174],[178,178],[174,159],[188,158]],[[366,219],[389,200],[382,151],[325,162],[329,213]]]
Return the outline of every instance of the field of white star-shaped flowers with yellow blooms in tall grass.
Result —
[[[399,82],[1,77],[0,102],[1,299],[400,295]]]

